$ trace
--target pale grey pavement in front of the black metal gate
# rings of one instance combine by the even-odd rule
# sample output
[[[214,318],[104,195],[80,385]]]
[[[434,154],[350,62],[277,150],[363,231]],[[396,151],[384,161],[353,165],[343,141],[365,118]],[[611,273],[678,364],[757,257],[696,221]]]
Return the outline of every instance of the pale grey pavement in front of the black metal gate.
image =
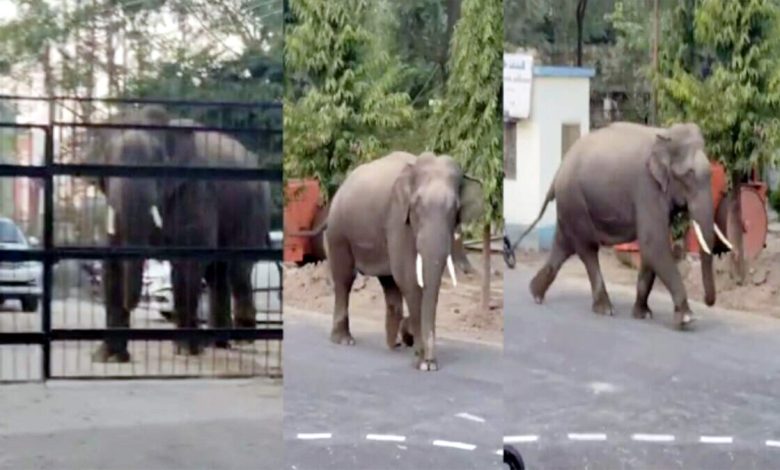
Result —
[[[283,466],[270,380],[49,382],[0,388],[0,469]]]

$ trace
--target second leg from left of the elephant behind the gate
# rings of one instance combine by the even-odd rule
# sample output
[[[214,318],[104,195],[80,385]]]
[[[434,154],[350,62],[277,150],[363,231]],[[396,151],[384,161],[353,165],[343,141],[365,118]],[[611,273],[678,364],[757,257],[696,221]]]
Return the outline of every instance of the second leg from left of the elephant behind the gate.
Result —
[[[173,307],[176,310],[176,324],[179,328],[198,327],[198,303],[201,297],[201,279],[204,270],[197,261],[174,261],[171,263],[173,281]],[[178,341],[177,354],[197,355],[203,351],[203,342],[198,339]]]

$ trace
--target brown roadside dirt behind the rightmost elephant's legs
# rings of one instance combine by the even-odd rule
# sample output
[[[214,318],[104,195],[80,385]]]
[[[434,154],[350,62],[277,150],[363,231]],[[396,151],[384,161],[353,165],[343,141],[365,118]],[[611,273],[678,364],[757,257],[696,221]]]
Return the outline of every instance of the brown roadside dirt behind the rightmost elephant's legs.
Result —
[[[518,252],[518,265],[530,269],[539,269],[547,259],[544,252]],[[599,255],[601,270],[609,283],[636,286],[636,270],[621,261],[612,249],[602,249]],[[745,285],[739,286],[732,279],[729,257],[723,255],[715,260],[716,306],[730,310],[760,313],[780,318],[780,232],[770,231],[767,246],[758,258],[749,263],[749,275]],[[704,300],[701,281],[701,267],[698,257],[689,255],[678,264],[685,279],[688,297],[696,301]],[[579,278],[587,282],[585,266],[578,258],[570,258],[561,268],[559,277]],[[522,286],[527,289],[528,286]],[[654,290],[665,289],[656,281]]]

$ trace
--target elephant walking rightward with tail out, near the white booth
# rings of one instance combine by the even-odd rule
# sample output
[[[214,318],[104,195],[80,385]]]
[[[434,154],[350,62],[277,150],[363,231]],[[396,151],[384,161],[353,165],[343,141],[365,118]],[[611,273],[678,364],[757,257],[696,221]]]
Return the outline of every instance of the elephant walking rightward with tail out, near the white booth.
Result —
[[[668,128],[616,122],[590,132],[572,145],[550,185],[539,215],[514,246],[556,201],[552,250],[530,282],[541,304],[558,270],[577,254],[588,272],[598,314],[614,314],[599,266],[599,247],[638,240],[641,267],[633,306],[635,318],[652,317],[648,296],[656,276],[674,302],[674,323],[684,329],[694,317],[675,263],[670,225],[687,212],[701,246],[705,303],[715,303],[714,254],[731,244],[714,221],[710,163],[701,130],[693,123]]]

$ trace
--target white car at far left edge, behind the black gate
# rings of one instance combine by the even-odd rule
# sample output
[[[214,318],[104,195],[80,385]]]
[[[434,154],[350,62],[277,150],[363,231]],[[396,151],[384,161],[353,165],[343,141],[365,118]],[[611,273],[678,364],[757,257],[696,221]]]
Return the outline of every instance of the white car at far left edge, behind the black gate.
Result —
[[[11,220],[0,217],[0,250],[29,250],[37,245]],[[43,295],[43,264],[39,261],[0,261],[0,305],[19,300],[22,311],[35,312]]]

